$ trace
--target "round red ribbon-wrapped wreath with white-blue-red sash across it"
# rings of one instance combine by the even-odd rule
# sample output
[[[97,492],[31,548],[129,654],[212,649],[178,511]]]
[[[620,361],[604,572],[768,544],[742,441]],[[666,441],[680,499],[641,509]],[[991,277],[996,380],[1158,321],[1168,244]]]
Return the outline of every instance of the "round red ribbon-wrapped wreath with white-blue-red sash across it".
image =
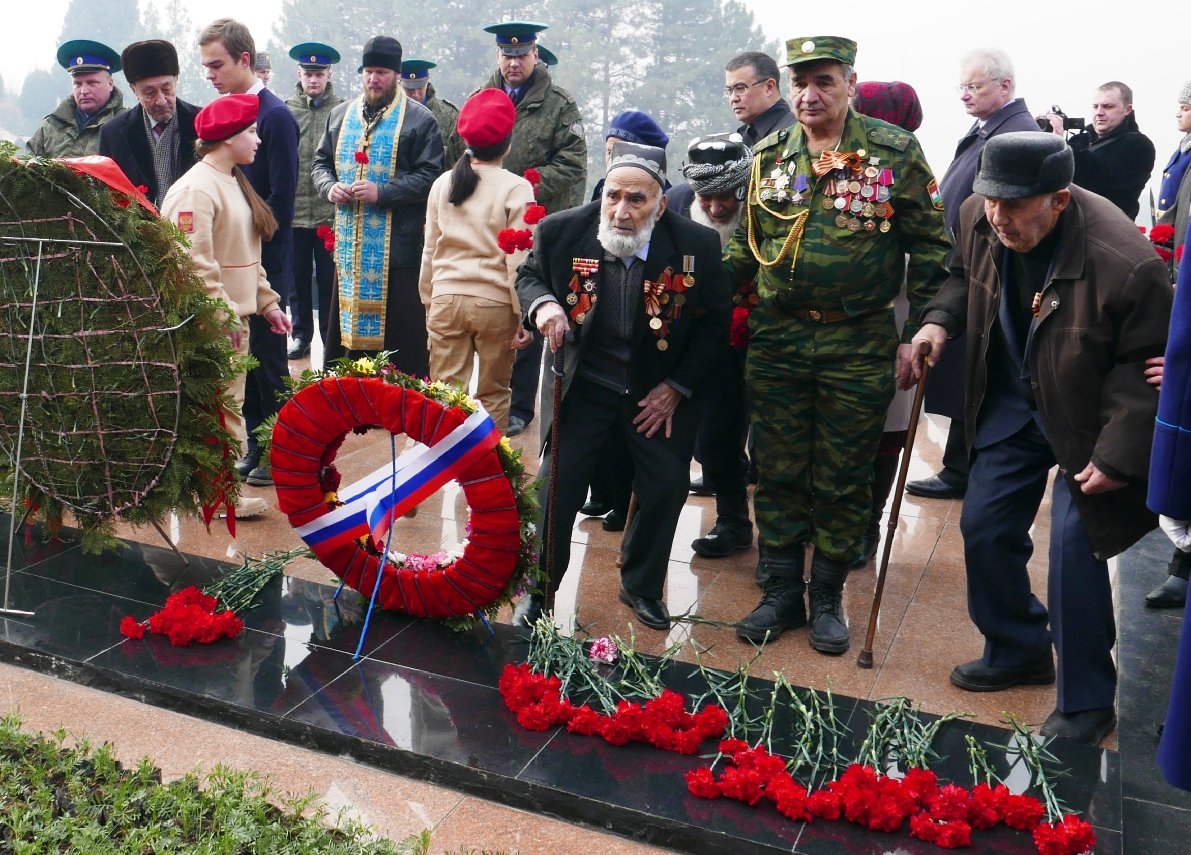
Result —
[[[272,445],[278,506],[294,528],[331,511],[320,475],[335,462],[348,431],[384,428],[435,445],[466,419],[460,407],[444,406],[379,377],[325,377],[298,392],[278,414]],[[436,569],[386,564],[376,597],[381,607],[445,618],[474,614],[500,597],[517,567],[520,518],[498,451],[481,457],[459,483],[472,530],[463,555]],[[313,547],[313,551],[347,585],[372,593],[379,549],[349,543]]]

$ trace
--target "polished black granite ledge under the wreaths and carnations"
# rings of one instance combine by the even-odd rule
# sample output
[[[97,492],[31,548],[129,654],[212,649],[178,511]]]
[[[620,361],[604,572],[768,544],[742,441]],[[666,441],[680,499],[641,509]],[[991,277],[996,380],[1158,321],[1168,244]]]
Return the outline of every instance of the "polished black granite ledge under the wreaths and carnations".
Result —
[[[0,517],[0,526],[6,525]],[[353,661],[363,620],[358,597],[345,591],[335,600],[330,586],[279,579],[266,589],[264,604],[243,616],[247,629],[239,637],[174,648],[157,636],[123,638],[120,618],[143,619],[170,593],[205,585],[217,562],[189,556],[185,566],[151,544],[92,556],[69,541],[42,547],[35,538],[23,550],[12,600],[36,614],[0,620],[4,661],[682,851],[939,851],[911,838],[906,828],[881,835],[843,822],[792,823],[767,801],[750,807],[696,798],[682,774],[705,762],[699,757],[641,744],[616,748],[557,728],[522,729],[497,691],[505,664],[525,656],[524,636],[510,626],[454,634],[378,612],[364,657]],[[687,695],[706,688],[698,670],[684,663],[667,672],[667,682]],[[850,728],[841,754],[854,756],[873,705],[841,697],[836,704]],[[943,759],[933,768],[942,778],[971,785],[968,734],[989,745],[1012,787],[1027,786],[1009,731],[968,722],[950,723],[939,736]],[[780,732],[777,742],[780,750]],[[711,742],[705,747],[713,750]],[[1052,750],[1070,769],[1060,795],[1097,826],[1097,851],[1122,851],[1127,759],[1075,744],[1055,743]],[[1135,801],[1135,813],[1145,810]],[[1125,810],[1124,822],[1129,818]],[[1030,855],[1035,848],[1028,834],[1002,826],[974,834],[969,851]]]

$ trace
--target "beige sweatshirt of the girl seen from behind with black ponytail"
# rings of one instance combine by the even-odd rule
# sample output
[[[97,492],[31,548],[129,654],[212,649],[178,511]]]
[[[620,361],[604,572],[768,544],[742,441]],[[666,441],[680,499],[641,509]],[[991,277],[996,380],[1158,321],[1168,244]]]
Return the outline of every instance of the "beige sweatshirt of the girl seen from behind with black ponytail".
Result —
[[[426,239],[422,249],[418,292],[429,311],[438,294],[468,294],[509,304],[520,313],[517,267],[525,250],[505,254],[497,235],[505,229],[526,229],[525,208],[534,204],[534,187],[519,175],[476,163],[480,181],[462,205],[447,201],[451,174],[441,175],[426,202]]]

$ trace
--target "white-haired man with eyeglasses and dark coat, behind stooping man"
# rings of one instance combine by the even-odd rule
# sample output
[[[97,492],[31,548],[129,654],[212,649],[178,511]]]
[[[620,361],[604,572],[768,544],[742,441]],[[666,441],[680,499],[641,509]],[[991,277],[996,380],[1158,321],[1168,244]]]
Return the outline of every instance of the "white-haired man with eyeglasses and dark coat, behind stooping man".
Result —
[[[959,229],[960,206],[972,195],[980,152],[996,136],[1012,131],[1037,131],[1039,124],[1030,114],[1025,100],[1017,98],[1014,86],[1014,63],[1002,50],[975,50],[960,62],[960,101],[975,121],[955,146],[955,158],[939,182],[943,194],[943,216],[947,232],[955,236]],[[962,333],[961,333],[962,335]],[[908,481],[905,489],[927,499],[960,499],[967,492],[968,454],[964,442],[964,341],[940,357],[927,381],[925,411],[952,420],[943,449],[943,468],[917,481]]]

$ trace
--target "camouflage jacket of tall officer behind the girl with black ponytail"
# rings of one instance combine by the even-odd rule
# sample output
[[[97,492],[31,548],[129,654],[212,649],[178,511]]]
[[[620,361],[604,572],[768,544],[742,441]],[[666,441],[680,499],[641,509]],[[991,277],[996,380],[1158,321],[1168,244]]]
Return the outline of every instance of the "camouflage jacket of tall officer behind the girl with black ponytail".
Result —
[[[500,70],[482,89],[501,89]],[[537,204],[547,213],[566,211],[582,201],[587,185],[587,141],[575,99],[550,81],[545,63],[537,63],[529,92],[517,104],[517,124],[505,169],[522,175],[534,168],[542,176]]]

